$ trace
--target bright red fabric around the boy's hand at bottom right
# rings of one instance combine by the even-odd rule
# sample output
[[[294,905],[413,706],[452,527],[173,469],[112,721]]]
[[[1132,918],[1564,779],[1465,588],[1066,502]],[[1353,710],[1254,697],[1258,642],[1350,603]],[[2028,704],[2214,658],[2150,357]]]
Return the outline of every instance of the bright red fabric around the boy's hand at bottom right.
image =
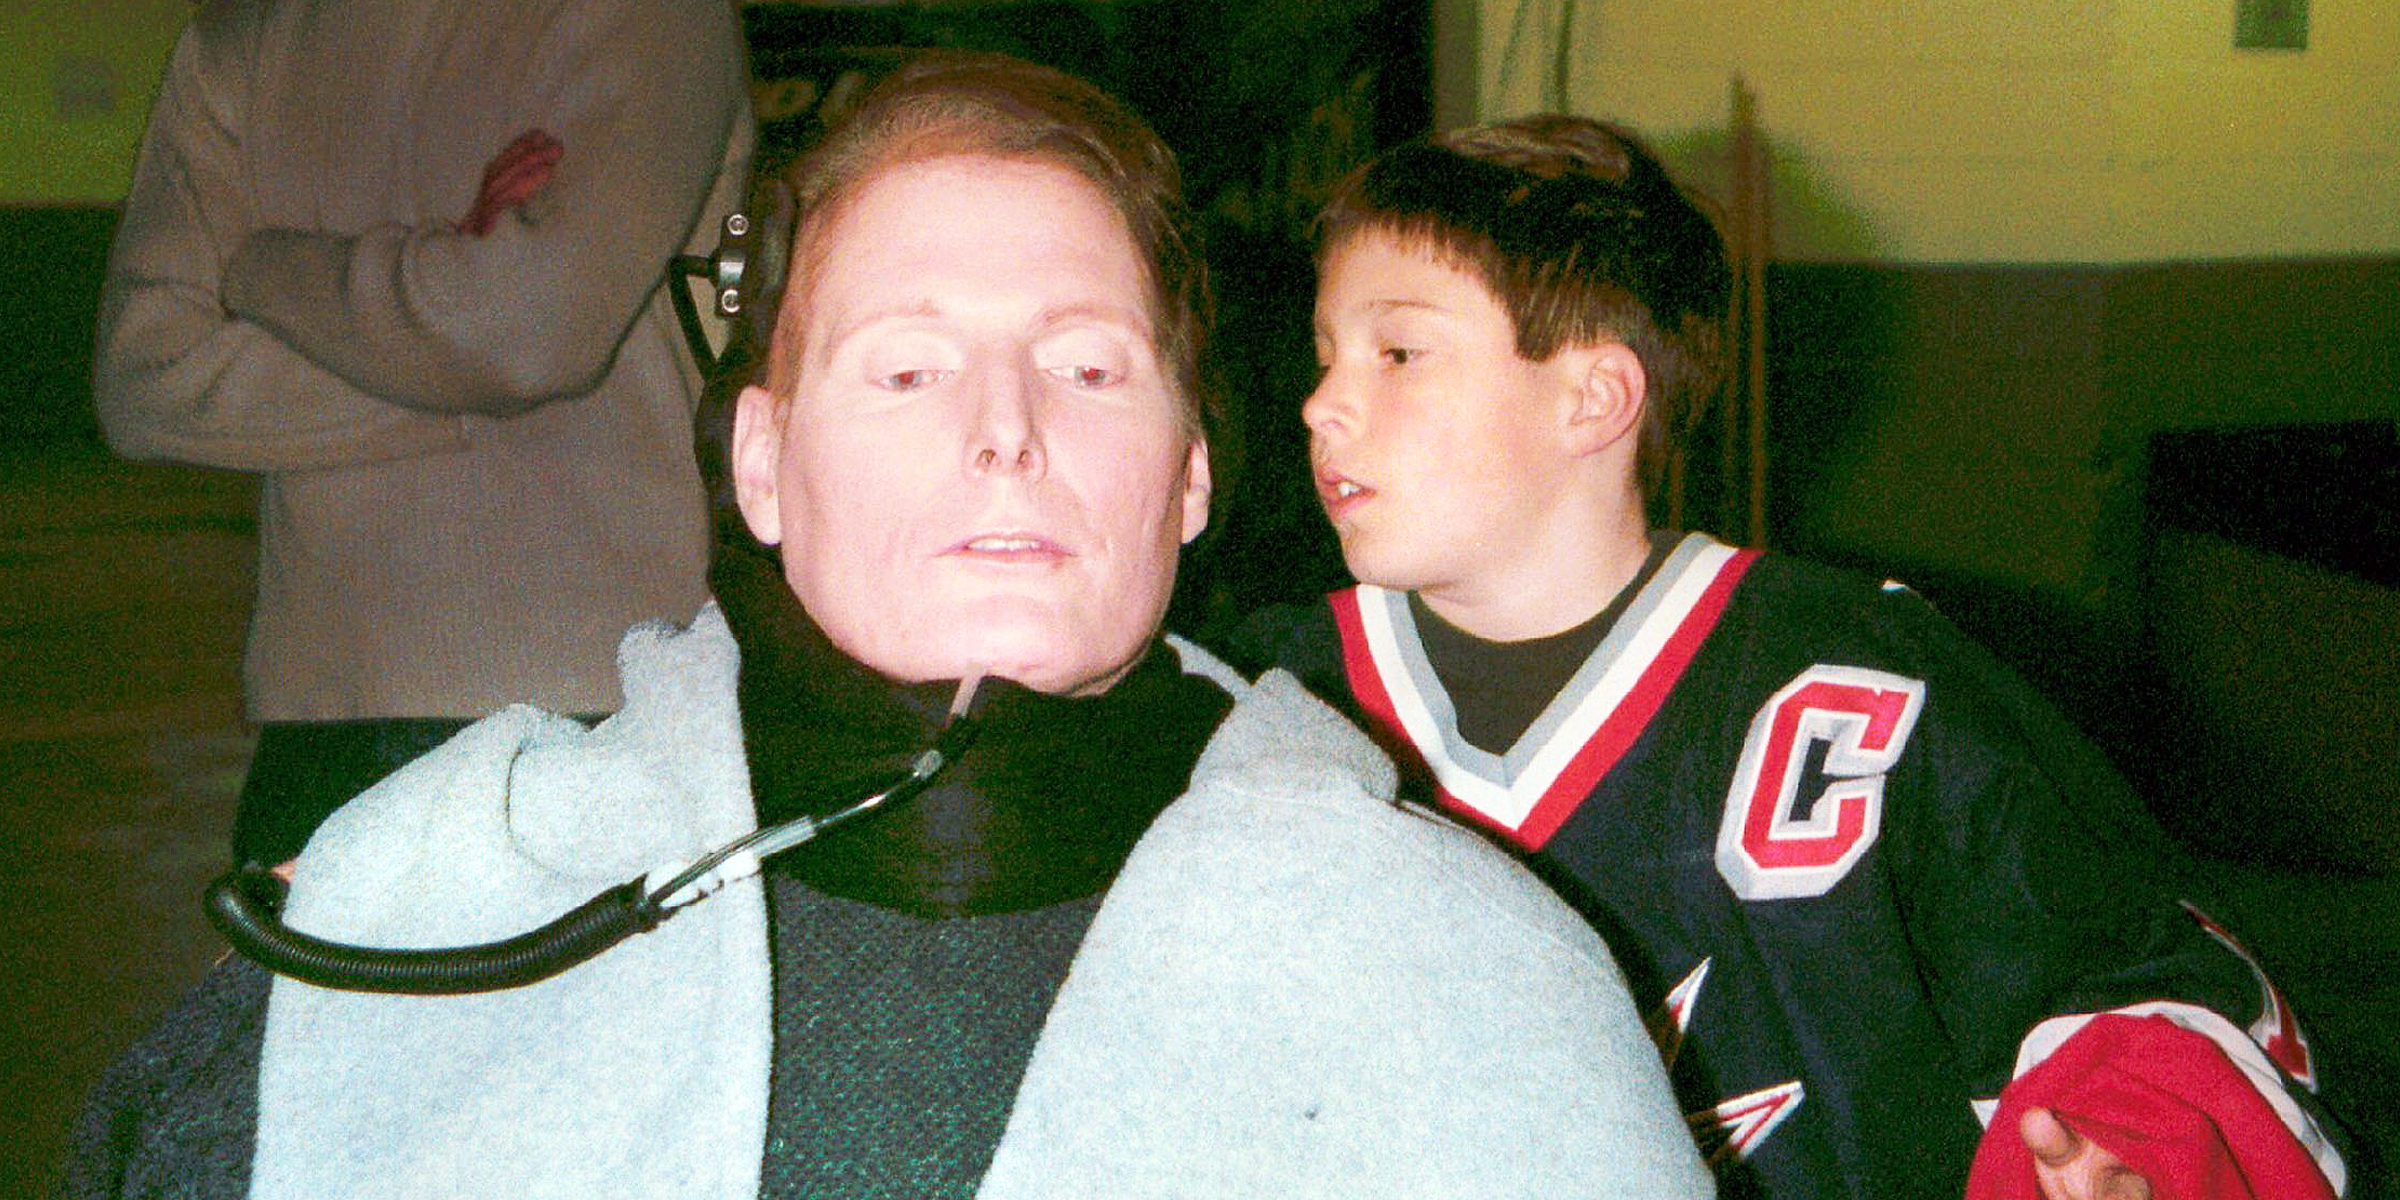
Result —
[[[2150,1181],[2153,1200],[2333,1200],[2299,1138],[2203,1034],[2102,1013],[1999,1094],[1968,1200],[2035,1200],[2026,1109],[2050,1109]]]

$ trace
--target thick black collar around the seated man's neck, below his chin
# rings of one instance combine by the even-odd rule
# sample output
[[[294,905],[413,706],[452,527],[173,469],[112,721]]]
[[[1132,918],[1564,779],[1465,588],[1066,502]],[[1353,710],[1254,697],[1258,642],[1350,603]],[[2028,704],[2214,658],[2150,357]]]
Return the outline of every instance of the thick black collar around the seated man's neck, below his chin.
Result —
[[[742,646],[742,739],[758,823],[823,816],[931,744],[955,682],[898,684],[840,653],[768,554],[722,554]],[[1018,912],[1094,895],[1176,794],[1231,698],[1152,641],[1102,696],[977,689],[982,732],[924,794],[770,869],[914,917]]]

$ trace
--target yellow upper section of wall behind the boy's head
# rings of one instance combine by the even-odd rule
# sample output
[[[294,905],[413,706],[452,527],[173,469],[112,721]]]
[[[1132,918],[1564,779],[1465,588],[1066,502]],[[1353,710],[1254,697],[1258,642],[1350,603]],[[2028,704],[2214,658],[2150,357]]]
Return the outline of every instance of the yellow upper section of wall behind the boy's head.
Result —
[[[2297,53],[2234,50],[2232,0],[1474,2],[1483,115],[1622,118],[1718,194],[1745,77],[1778,257],[2400,252],[2393,0],[2311,0]]]

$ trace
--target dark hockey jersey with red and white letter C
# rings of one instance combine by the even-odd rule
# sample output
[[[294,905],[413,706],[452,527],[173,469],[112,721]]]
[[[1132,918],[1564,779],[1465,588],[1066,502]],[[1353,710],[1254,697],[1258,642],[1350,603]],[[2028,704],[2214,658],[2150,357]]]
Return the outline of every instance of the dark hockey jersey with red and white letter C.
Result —
[[[2004,1087],[2102,1013],[2222,1051],[2340,1193],[2280,994],[2172,900],[2107,761],[1906,588],[1682,535],[1505,754],[1404,593],[1334,593],[1277,658],[1608,938],[1726,1195],[1958,1198]]]

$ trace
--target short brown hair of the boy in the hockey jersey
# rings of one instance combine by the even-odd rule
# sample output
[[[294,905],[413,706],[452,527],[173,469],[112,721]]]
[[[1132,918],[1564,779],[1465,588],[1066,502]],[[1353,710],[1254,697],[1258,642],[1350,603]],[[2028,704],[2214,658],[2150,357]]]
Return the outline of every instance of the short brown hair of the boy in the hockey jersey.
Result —
[[[1351,173],[1318,216],[1318,264],[1361,233],[1481,278],[1526,360],[1598,341],[1632,348],[1649,377],[1644,492],[1723,382],[1726,242],[1649,146],[1615,125],[1543,113],[1394,146]]]

